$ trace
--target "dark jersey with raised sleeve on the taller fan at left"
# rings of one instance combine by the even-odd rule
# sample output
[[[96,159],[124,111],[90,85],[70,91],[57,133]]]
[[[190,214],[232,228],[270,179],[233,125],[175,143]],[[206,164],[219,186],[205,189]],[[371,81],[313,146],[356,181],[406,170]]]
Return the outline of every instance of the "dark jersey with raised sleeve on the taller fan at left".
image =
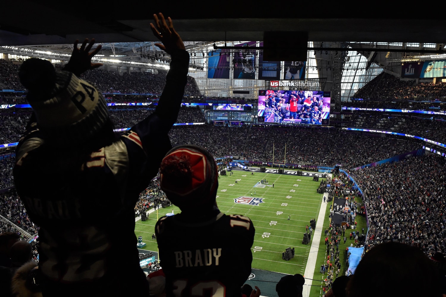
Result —
[[[167,134],[177,120],[188,64],[185,50],[175,52],[155,112],[95,149],[62,146],[31,117],[13,174],[29,218],[40,226],[39,270],[52,292],[149,292],[139,266],[134,207],[171,148]]]

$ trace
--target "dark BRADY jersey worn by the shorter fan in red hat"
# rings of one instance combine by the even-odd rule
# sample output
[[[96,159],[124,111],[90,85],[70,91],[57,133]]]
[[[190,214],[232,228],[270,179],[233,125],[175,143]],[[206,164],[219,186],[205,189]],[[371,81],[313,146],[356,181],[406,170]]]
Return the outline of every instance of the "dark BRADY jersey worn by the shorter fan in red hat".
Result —
[[[167,297],[241,296],[251,273],[254,226],[241,215],[214,213],[188,222],[182,213],[155,226]]]

